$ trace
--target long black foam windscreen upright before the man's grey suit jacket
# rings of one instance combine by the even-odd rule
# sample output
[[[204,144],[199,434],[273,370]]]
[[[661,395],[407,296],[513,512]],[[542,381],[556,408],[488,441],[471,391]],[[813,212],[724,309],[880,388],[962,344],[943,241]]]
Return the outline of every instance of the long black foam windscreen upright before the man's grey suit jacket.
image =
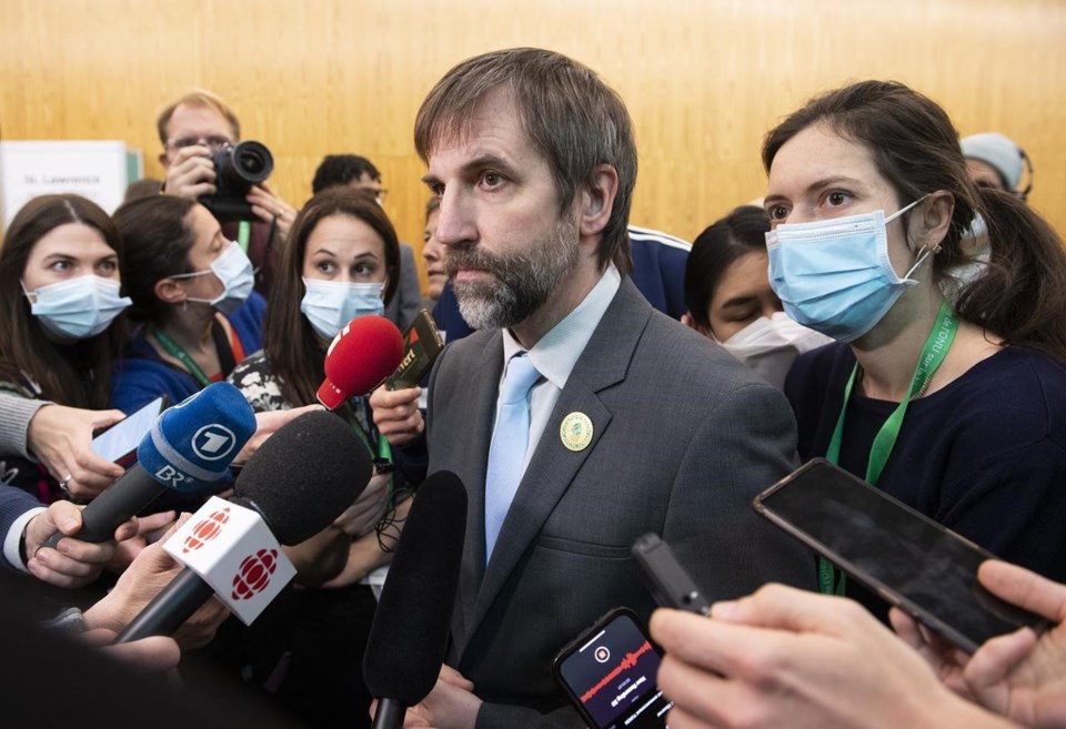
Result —
[[[418,488],[378,601],[363,655],[371,696],[414,706],[436,682],[447,649],[466,535],[466,489],[441,470]]]

